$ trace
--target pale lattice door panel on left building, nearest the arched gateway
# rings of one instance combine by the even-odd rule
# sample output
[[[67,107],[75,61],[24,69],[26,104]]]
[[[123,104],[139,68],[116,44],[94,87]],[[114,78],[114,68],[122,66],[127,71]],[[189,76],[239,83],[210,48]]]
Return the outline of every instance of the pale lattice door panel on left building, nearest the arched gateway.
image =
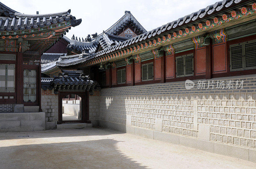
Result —
[[[23,101],[36,102],[36,70],[24,69]]]

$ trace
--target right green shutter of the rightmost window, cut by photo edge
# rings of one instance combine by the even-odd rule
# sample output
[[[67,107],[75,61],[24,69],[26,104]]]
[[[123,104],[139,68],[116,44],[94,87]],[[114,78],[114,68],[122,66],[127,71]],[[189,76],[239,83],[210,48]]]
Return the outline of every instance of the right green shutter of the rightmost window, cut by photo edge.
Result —
[[[256,68],[256,41],[245,43],[245,67],[244,69]]]

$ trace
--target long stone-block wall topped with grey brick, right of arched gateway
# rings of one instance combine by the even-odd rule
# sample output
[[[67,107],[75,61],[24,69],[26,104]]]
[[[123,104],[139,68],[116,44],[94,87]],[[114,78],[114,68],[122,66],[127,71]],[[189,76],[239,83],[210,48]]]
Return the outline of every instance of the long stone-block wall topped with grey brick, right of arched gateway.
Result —
[[[252,148],[256,153],[256,75],[215,78],[210,80],[213,88],[197,88],[202,81],[194,80],[192,89],[185,88],[185,81],[103,88],[99,123],[135,134],[145,129],[244,147],[248,152]],[[234,86],[243,81],[243,88],[218,88],[218,81],[232,81]]]

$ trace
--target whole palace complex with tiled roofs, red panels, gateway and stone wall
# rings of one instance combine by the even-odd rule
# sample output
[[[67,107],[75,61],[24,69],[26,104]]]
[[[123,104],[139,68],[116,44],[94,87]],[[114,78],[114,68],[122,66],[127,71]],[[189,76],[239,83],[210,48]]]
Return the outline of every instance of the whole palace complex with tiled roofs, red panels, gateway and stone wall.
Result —
[[[256,1],[216,2],[148,32],[125,11],[82,39],[62,36],[81,22],[70,11],[26,18],[4,4],[1,10],[9,10],[0,20],[8,58],[1,60],[1,111],[39,106],[46,129],[102,126],[255,158]],[[67,120],[71,109],[77,118]]]

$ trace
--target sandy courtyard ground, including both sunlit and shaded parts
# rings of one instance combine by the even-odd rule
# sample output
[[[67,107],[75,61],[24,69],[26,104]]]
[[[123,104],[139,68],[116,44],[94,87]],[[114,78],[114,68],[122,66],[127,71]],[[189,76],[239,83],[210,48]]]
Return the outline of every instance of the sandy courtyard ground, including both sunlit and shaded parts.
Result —
[[[0,133],[0,168],[255,168],[255,163],[88,127]]]

